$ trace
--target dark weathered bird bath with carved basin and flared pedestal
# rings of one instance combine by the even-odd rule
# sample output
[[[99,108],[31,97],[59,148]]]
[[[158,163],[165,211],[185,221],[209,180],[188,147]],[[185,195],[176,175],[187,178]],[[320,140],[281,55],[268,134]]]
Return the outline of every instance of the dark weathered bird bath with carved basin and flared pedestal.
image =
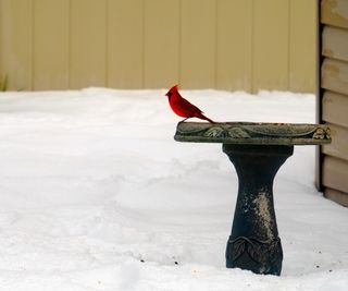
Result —
[[[221,143],[236,168],[239,186],[226,267],[281,275],[283,251],[273,204],[273,180],[295,145],[331,142],[320,124],[179,122],[178,142]]]

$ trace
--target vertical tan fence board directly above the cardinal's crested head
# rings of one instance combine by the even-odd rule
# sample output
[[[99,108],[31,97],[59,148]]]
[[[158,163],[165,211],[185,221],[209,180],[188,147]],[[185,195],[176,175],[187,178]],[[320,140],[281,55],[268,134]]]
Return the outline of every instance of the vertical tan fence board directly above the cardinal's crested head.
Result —
[[[179,76],[179,0],[145,2],[145,87],[166,88]]]

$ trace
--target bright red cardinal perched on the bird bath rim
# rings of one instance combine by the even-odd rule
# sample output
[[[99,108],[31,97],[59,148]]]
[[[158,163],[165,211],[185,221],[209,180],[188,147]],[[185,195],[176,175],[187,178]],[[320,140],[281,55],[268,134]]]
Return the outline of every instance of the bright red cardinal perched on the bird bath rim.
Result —
[[[208,120],[210,123],[215,123],[211,119],[204,117],[202,114],[202,111],[198,107],[196,107],[195,105],[190,104],[185,98],[183,98],[177,92],[177,85],[173,86],[165,94],[165,96],[167,96],[170,106],[173,109],[173,111],[177,116],[185,118],[183,121],[189,118],[199,118],[199,119]]]

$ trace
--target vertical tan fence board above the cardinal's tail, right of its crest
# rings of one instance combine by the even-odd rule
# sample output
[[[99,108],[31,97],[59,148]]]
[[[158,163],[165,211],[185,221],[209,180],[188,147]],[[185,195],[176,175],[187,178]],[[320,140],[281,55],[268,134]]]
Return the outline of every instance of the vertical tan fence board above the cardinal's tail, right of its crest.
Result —
[[[183,0],[181,13],[179,81],[182,87],[214,88],[216,85],[216,1]]]

